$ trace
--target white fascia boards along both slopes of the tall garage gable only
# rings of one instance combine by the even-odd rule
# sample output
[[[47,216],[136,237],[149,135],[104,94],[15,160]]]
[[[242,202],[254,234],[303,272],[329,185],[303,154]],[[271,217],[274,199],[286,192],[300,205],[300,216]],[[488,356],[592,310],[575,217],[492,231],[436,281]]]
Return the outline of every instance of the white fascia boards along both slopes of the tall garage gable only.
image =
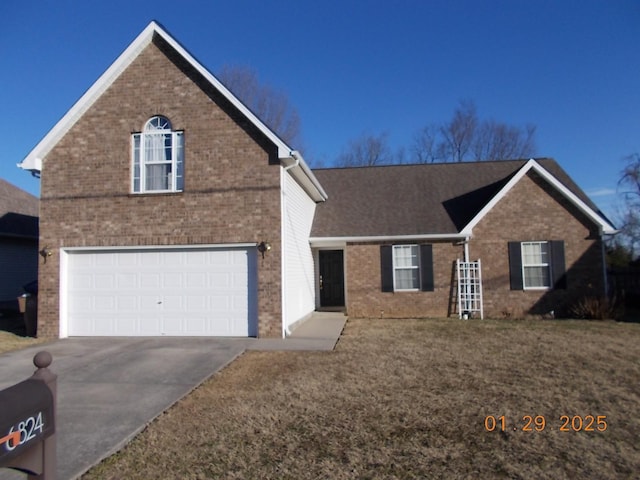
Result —
[[[220,81],[202,66],[182,45],[169,35],[156,22],[151,22],[116,59],[115,62],[98,78],[71,109],[56,123],[35,148],[18,164],[24,170],[42,170],[42,159],[51,151],[65,133],[93,105],[93,103],[111,86],[120,74],[135,60],[142,50],[153,40],[153,35],[160,35],[178,54],[191,64],[202,76],[218,89],[243,115],[247,117],[278,148],[279,158],[291,157],[291,148],[271,131],[249,108],[231,93]]]

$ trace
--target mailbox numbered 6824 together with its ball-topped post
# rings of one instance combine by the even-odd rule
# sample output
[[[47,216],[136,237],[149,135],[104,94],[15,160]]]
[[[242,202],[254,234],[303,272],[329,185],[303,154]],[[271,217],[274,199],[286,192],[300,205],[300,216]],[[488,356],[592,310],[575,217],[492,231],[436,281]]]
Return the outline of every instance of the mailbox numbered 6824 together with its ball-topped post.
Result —
[[[27,473],[28,479],[55,480],[56,379],[51,354],[33,357],[35,373],[0,391],[0,467]]]

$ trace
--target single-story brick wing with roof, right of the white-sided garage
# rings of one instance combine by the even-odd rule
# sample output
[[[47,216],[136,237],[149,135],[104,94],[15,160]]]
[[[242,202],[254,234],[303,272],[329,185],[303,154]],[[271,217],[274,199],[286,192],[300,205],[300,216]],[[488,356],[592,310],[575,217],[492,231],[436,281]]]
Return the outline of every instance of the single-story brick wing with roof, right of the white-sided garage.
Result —
[[[314,173],[329,199],[310,243],[320,269],[345,258],[352,316],[567,315],[605,294],[615,229],[552,159]]]

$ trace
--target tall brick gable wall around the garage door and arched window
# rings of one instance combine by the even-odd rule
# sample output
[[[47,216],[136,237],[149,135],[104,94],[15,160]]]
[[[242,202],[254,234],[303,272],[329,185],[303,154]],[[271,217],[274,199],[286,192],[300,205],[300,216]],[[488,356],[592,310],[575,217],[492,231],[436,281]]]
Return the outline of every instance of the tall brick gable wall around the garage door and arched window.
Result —
[[[280,169],[275,150],[161,41],[145,48],[44,159],[39,333],[59,331],[59,248],[268,240],[260,336],[280,336]],[[185,74],[185,72],[187,74]],[[131,134],[154,115],[185,132],[184,192],[131,194]]]

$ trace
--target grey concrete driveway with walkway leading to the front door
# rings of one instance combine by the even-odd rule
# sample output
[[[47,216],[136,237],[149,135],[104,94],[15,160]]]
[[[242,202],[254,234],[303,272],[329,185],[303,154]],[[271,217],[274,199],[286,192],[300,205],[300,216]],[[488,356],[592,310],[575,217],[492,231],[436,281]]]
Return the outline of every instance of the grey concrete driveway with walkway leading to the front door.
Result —
[[[245,350],[331,351],[342,313],[314,313],[286,339],[68,338],[0,355],[0,389],[33,373],[46,350],[58,375],[58,480],[75,479]],[[0,469],[0,480],[25,475]]]

